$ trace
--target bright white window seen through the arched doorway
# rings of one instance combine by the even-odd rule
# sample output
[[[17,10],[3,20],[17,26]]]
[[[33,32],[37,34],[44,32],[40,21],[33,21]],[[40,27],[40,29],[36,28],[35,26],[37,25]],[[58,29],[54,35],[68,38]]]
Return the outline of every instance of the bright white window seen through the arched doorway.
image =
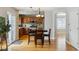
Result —
[[[57,29],[65,29],[66,28],[66,14],[58,13],[56,15],[56,21],[57,21]]]

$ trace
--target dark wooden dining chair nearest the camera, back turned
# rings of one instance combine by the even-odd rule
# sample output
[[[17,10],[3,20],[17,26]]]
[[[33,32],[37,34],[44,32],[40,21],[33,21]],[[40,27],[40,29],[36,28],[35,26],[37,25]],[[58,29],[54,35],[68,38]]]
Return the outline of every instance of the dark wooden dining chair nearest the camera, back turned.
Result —
[[[44,35],[43,30],[36,30],[35,32],[35,47],[37,47],[37,40],[41,40],[42,47],[44,45]]]

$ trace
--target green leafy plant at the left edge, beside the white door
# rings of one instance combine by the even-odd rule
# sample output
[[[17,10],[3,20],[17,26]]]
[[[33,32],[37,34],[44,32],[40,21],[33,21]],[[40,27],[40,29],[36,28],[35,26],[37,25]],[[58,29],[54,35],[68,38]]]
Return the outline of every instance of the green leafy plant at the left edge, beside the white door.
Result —
[[[2,38],[6,37],[6,33],[10,30],[9,27],[9,23],[6,24],[5,22],[5,17],[0,16],[0,43],[2,43]]]

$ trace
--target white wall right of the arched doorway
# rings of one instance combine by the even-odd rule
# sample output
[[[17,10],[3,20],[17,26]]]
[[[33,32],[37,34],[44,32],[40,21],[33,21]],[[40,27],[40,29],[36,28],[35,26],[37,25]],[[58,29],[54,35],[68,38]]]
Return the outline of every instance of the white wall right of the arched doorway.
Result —
[[[78,8],[68,8],[69,16],[69,40],[70,44],[78,49],[79,46],[79,34],[78,34]]]

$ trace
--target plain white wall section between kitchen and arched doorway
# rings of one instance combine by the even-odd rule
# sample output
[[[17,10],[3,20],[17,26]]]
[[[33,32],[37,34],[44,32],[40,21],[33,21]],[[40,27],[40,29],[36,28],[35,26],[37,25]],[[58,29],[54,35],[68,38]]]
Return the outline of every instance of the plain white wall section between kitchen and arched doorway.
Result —
[[[52,11],[45,11],[45,19],[44,19],[44,29],[49,30],[51,28],[51,39],[53,39],[53,20],[52,20]],[[47,39],[47,38],[46,38]]]

